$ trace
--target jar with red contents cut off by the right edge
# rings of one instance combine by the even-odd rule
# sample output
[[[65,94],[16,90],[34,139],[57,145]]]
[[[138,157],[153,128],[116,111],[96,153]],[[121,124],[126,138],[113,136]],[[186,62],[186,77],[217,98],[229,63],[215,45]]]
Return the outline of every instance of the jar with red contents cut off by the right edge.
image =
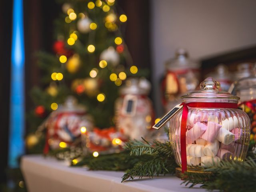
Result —
[[[238,107],[250,117],[250,146],[256,144],[256,65],[253,72],[253,75],[238,80],[234,88],[236,95],[240,97]]]

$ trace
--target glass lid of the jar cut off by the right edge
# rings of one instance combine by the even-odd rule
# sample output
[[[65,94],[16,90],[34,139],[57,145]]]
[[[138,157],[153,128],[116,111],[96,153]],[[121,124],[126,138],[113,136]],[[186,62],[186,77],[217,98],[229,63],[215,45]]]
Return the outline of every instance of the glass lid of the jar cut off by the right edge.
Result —
[[[256,64],[253,68],[253,75],[238,80],[235,86],[236,91],[251,89],[256,89]]]

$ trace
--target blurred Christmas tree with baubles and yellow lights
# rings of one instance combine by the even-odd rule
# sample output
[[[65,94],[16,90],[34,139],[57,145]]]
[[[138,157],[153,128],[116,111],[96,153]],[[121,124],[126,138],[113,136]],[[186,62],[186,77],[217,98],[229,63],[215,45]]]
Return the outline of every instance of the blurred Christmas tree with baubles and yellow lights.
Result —
[[[127,16],[115,0],[60,3],[63,13],[56,19],[54,53],[38,53],[44,88],[31,92],[35,108],[28,114],[28,132],[35,132],[70,95],[87,107],[96,127],[112,126],[118,87],[127,76],[141,75],[122,38]],[[31,148],[37,136],[29,135],[26,143]]]

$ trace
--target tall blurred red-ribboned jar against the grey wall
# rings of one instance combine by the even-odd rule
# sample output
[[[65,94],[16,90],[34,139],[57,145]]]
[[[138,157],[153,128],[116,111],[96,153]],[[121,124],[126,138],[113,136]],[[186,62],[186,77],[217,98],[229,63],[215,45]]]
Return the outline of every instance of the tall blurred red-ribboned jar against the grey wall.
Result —
[[[195,90],[199,84],[200,64],[188,57],[188,52],[178,49],[175,58],[166,62],[166,74],[162,81],[162,103],[166,111],[175,106],[180,94]]]

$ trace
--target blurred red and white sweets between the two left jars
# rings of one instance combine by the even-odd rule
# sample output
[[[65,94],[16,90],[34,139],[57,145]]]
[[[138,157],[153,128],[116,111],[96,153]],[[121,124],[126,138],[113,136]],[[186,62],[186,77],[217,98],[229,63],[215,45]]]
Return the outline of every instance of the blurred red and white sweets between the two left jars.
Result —
[[[128,140],[127,137],[118,132],[114,127],[102,130],[94,128],[91,131],[81,128],[81,133],[84,155],[88,153],[92,153],[93,156],[97,154],[118,153],[123,149],[124,142]]]

